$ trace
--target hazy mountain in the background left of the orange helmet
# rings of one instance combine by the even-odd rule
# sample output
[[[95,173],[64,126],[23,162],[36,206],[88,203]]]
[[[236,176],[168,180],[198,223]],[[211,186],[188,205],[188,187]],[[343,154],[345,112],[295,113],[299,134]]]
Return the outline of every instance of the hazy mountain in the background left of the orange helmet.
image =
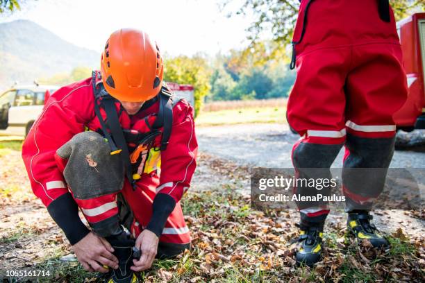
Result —
[[[0,24],[0,92],[15,81],[69,73],[75,67],[99,66],[100,53],[75,46],[27,20]]]

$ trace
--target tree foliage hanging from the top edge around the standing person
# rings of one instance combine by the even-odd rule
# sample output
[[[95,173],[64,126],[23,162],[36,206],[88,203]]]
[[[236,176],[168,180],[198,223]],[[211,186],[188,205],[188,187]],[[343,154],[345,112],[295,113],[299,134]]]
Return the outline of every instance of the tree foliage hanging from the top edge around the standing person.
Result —
[[[224,1],[223,11],[231,1]],[[413,10],[425,9],[425,0],[390,0],[390,3],[397,20],[406,17]],[[253,51],[251,47],[262,41],[263,32],[272,31],[275,45],[270,56],[275,56],[274,53],[285,49],[292,39],[298,8],[299,0],[244,0],[242,6],[236,11],[229,12],[228,16],[248,14],[253,16],[253,22],[247,28],[247,38],[251,42],[247,52]]]

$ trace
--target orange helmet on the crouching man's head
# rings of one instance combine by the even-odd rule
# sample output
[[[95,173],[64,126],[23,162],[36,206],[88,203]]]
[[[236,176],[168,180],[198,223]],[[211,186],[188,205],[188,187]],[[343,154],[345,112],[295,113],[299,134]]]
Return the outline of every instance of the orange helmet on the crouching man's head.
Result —
[[[147,33],[122,28],[110,35],[101,57],[106,91],[119,101],[147,101],[160,92],[163,58]]]

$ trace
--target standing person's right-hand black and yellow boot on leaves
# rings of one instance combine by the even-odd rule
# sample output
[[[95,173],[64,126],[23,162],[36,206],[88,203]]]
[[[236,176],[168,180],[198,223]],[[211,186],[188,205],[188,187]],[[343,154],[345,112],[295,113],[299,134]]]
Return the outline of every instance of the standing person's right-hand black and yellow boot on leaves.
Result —
[[[348,213],[347,228],[352,232],[357,241],[368,239],[374,248],[390,249],[390,243],[376,229],[376,226],[370,221],[372,215],[367,210],[354,210]]]

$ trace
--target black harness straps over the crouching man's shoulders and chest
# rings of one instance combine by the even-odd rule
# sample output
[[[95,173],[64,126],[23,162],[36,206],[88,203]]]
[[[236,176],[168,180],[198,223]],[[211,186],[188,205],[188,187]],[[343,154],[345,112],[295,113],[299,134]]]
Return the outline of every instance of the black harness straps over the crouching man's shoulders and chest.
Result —
[[[167,149],[173,123],[172,94],[169,92],[167,87],[163,86],[158,96],[144,103],[149,106],[159,100],[159,110],[153,125],[149,124],[147,119],[148,117],[144,118],[148,128],[150,129],[149,132],[135,133],[131,130],[123,130],[119,123],[119,117],[115,108],[115,102],[117,102],[117,99],[113,98],[113,96],[110,96],[110,94],[106,92],[106,89],[103,87],[103,83],[96,85],[97,74],[100,76],[100,73],[95,71],[92,72],[94,112],[101,124],[101,132],[99,131],[99,133],[108,139],[108,143],[111,148],[110,154],[120,154],[126,176],[134,189],[136,180],[133,178],[133,173],[137,171],[138,166],[142,161],[142,156],[139,157],[138,162],[131,164],[130,154],[141,144],[147,146],[147,148],[152,148],[155,138],[161,134],[160,151],[165,151]],[[101,116],[100,108],[103,108],[106,112],[106,121],[103,120],[103,117]],[[122,110],[120,110],[120,112],[121,111]],[[161,128],[163,128],[163,130],[161,130]],[[135,144],[135,146],[129,147],[128,143]]]

